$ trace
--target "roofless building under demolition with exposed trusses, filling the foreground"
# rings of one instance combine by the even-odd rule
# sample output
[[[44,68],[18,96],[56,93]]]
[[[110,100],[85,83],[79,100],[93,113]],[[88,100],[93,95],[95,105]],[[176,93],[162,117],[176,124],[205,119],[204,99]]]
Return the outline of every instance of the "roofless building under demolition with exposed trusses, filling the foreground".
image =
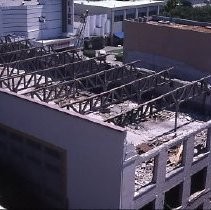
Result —
[[[1,161],[52,206],[211,208],[209,76],[8,36],[0,62]]]

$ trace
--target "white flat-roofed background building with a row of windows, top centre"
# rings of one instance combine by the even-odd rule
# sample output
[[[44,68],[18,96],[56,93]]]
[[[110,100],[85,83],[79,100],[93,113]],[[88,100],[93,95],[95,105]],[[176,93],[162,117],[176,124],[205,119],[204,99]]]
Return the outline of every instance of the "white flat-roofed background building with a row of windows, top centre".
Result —
[[[110,20],[109,31],[111,35],[122,32],[124,19],[135,19],[143,16],[157,15],[162,9],[164,1],[74,1],[74,14],[80,15],[84,10],[89,10],[89,15],[106,14]],[[99,16],[97,17],[97,19]],[[96,27],[98,28],[98,27]]]

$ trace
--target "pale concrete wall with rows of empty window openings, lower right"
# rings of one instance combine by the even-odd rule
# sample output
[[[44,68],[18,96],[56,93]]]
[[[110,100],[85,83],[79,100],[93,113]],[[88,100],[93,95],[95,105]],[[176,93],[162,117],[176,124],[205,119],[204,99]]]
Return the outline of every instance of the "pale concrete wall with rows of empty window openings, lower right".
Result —
[[[195,137],[202,131],[206,130],[206,147],[202,153],[195,155]],[[152,209],[163,209],[165,196],[175,186],[179,186],[179,193],[172,200],[180,197],[178,208],[194,209],[200,206],[200,209],[210,209],[211,203],[211,121],[204,123],[202,126],[194,128],[186,135],[177,137],[167,143],[158,146],[142,155],[129,156],[124,161],[122,206],[124,209],[141,209],[147,204],[153,203]],[[167,160],[169,150],[183,145],[182,164],[170,171],[167,171]],[[154,158],[152,181],[142,187],[135,193],[135,168],[150,159]],[[133,173],[132,173],[133,171]],[[193,177],[197,173],[200,178],[195,180]],[[203,180],[204,179],[204,180]],[[198,191],[193,191],[197,182],[204,182],[199,186]],[[129,184],[128,184],[129,183]],[[130,193],[125,193],[130,192]],[[133,195],[133,196],[132,196]],[[176,208],[176,207],[175,207]]]

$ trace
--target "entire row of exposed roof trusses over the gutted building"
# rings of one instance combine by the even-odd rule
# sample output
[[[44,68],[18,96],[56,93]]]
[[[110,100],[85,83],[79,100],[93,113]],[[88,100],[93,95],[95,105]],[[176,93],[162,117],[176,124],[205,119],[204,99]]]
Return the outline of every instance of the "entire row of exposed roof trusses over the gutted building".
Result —
[[[172,68],[155,73],[143,69],[142,61],[111,68],[106,56],[82,61],[77,49],[56,52],[51,46],[32,47],[29,40],[16,40],[10,36],[0,38],[1,88],[44,102],[54,101],[61,108],[81,114],[102,112],[113,104],[124,107],[124,101],[135,100],[135,108],[127,107],[127,111],[105,120],[119,126],[139,123],[175,107],[176,130],[180,104],[198,96],[205,99],[211,93],[211,76],[172,90]],[[168,93],[149,100],[154,93],[159,94],[160,86],[168,87]],[[117,112],[111,108],[113,115]]]

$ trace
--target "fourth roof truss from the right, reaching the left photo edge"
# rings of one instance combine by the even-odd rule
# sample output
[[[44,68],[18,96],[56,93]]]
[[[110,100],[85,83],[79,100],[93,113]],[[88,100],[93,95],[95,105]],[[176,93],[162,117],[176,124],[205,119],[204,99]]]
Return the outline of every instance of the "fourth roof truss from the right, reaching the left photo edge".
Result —
[[[53,81],[62,82],[64,80],[72,80],[88,73],[105,70],[106,68],[107,64],[105,62],[97,62],[93,58],[33,72],[19,72],[18,75],[0,79],[0,87],[18,92],[31,87],[39,88],[43,85],[47,86],[52,84]],[[13,71],[15,71],[15,69]],[[11,71],[9,74],[12,75]]]

